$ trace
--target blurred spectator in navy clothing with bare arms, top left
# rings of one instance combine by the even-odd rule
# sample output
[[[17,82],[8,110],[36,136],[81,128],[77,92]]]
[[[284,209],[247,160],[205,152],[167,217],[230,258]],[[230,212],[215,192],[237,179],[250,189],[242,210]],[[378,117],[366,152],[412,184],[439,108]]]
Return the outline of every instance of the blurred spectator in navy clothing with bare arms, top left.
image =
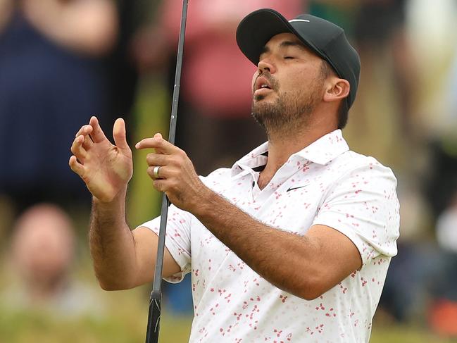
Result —
[[[0,197],[14,213],[89,204],[62,142],[84,118],[106,117],[100,61],[117,30],[111,0],[0,0]]]

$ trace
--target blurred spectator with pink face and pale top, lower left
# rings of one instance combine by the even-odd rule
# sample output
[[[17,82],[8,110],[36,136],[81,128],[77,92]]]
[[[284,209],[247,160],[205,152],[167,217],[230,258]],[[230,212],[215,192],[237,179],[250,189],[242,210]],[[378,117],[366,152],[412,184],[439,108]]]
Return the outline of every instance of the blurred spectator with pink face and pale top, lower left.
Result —
[[[70,218],[61,209],[49,204],[28,209],[13,232],[12,275],[1,302],[12,311],[35,308],[65,318],[100,313],[94,291],[71,277],[75,242]]]

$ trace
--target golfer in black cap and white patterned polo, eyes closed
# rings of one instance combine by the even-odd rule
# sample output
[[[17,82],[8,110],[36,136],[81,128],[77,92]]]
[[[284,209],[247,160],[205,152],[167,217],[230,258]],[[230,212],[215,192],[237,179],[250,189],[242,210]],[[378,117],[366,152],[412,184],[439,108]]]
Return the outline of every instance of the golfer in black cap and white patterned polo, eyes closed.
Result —
[[[252,111],[268,143],[201,178],[160,134],[136,145],[155,149],[147,172],[173,203],[163,276],[192,273],[190,341],[367,342],[396,254],[399,204],[392,171],[349,151],[339,130],[358,55],[336,25],[312,15],[288,22],[269,9],[242,20],[237,42],[258,66]],[[122,119],[113,136],[115,146],[91,118],[70,166],[94,195],[100,285],[126,289],[151,282],[159,219],[133,232],[125,223],[132,153]]]

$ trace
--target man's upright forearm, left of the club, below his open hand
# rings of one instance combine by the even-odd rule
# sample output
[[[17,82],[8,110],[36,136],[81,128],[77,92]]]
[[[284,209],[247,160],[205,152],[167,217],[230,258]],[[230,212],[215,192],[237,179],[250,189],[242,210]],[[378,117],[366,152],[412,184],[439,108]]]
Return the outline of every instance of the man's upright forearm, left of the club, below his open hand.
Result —
[[[103,289],[132,287],[136,256],[132,232],[125,221],[125,191],[110,203],[94,197],[89,245],[95,274]]]

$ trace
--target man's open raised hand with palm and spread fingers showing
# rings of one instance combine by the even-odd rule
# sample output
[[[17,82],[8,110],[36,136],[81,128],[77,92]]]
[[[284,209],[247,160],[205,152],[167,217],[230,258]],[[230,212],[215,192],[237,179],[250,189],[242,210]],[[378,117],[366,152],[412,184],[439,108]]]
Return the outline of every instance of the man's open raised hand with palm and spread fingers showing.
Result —
[[[76,134],[71,146],[70,168],[80,175],[89,191],[102,202],[110,202],[127,187],[133,173],[132,151],[125,139],[125,123],[119,118],[113,127],[115,145],[101,130],[96,117]]]

